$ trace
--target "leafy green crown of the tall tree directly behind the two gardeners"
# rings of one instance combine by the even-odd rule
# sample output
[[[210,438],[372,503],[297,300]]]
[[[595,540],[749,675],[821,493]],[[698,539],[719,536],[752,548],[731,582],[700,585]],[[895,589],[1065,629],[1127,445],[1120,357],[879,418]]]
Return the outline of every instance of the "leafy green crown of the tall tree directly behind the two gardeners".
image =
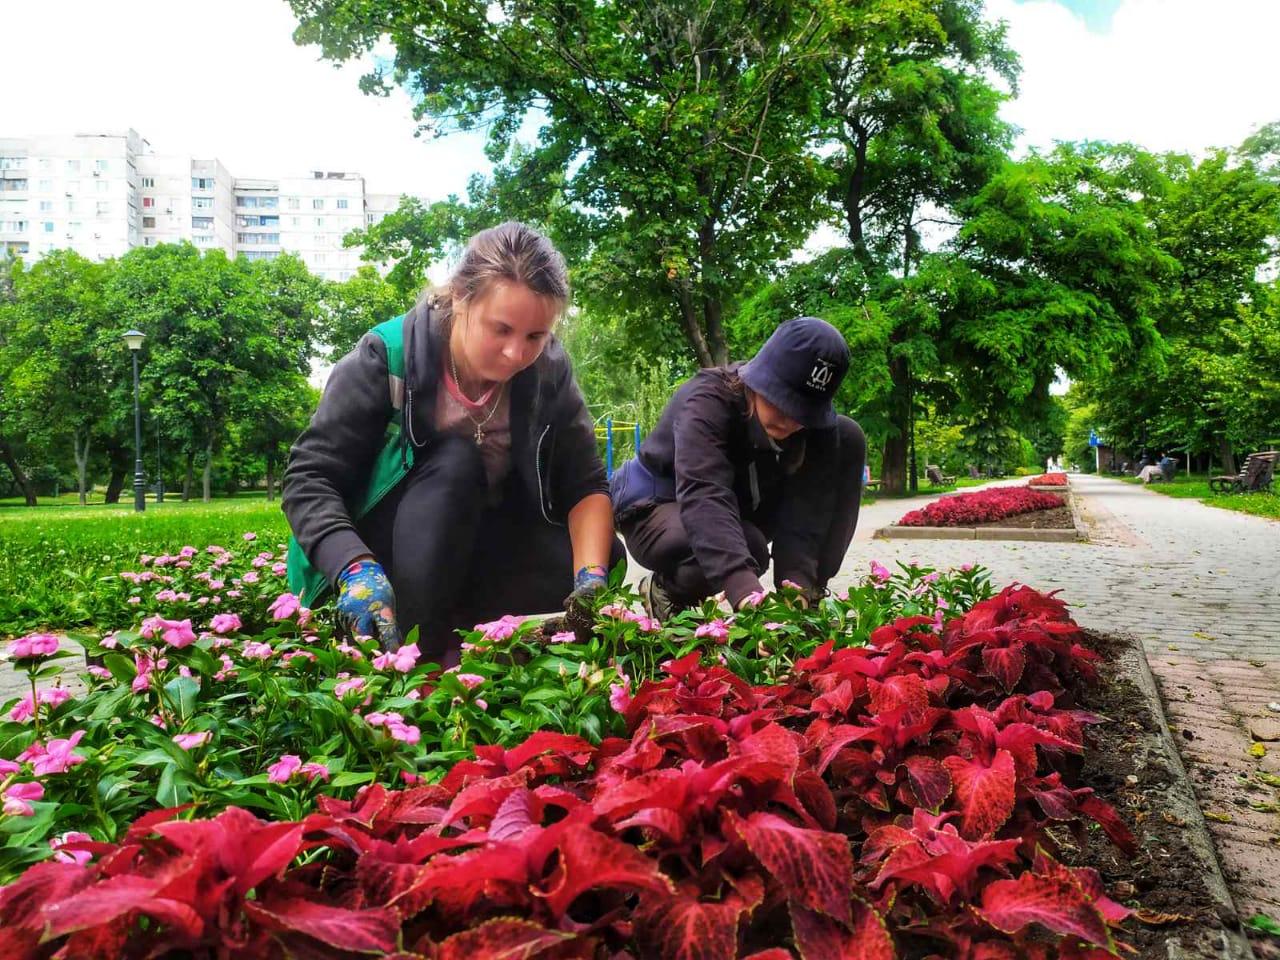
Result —
[[[726,305],[817,221],[813,91],[844,8],[291,5],[296,40],[326,58],[389,37],[394,64],[364,88],[411,88],[436,131],[486,124],[490,157],[515,159],[525,206],[585,253],[585,301],[678,329],[704,365],[727,360]],[[543,122],[539,143],[513,155],[530,115]]]

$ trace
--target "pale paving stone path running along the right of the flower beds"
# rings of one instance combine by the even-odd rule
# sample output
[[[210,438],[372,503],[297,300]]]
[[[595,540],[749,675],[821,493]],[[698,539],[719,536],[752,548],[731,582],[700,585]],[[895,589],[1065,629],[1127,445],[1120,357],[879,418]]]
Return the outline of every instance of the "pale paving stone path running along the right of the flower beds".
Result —
[[[933,498],[881,500],[833,585],[872,559],[977,562],[996,584],[1060,589],[1083,626],[1139,637],[1236,909],[1280,920],[1280,788],[1258,777],[1280,777],[1280,712],[1268,708],[1280,707],[1280,521],[1107,477],[1071,483],[1091,543],[874,540]]]

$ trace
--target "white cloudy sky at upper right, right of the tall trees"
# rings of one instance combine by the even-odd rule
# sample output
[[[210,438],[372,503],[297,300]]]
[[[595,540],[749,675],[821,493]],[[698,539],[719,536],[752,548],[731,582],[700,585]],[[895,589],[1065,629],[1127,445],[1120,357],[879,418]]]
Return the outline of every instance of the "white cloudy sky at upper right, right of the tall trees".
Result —
[[[988,0],[1023,61],[1004,115],[1020,143],[1130,141],[1198,152],[1280,120],[1280,4],[1124,0],[1107,32],[1055,0]]]

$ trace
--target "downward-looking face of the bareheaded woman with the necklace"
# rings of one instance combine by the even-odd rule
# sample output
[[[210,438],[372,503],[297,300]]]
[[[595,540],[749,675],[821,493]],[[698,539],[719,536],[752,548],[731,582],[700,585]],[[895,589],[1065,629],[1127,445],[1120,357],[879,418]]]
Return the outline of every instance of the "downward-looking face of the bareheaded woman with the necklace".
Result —
[[[527,367],[547,346],[556,301],[521,283],[498,280],[483,293],[453,306],[465,365],[471,376],[506,383]]]

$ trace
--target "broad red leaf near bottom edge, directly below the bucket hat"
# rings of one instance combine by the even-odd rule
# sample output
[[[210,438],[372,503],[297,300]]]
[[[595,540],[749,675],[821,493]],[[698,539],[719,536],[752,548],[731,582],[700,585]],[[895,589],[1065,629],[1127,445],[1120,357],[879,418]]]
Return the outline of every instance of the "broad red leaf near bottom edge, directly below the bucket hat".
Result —
[[[754,813],[735,826],[790,900],[849,923],[854,858],[849,837],[795,827],[772,813]]]

